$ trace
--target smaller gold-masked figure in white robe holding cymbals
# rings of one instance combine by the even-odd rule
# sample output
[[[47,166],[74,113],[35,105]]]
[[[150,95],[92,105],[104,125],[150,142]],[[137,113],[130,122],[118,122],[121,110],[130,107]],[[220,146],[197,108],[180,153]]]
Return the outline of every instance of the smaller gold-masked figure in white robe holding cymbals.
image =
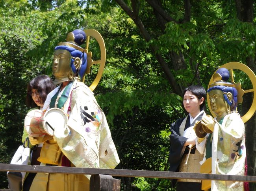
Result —
[[[197,138],[197,149],[200,153],[205,150],[202,169],[206,171],[210,164],[212,174],[244,175],[245,173],[245,126],[236,111],[237,99],[241,86],[227,82],[230,73],[226,68],[220,68],[213,75],[213,84],[208,89],[210,106],[216,118],[203,116],[201,126],[196,127],[212,131],[207,137]],[[236,89],[240,88],[240,89]],[[202,131],[201,131],[202,132]],[[198,133],[197,133],[198,135]],[[200,135],[199,135],[200,136]],[[208,170],[209,171],[209,170]],[[204,183],[202,183],[204,184]],[[243,191],[243,182],[211,181],[205,190],[236,190]]]

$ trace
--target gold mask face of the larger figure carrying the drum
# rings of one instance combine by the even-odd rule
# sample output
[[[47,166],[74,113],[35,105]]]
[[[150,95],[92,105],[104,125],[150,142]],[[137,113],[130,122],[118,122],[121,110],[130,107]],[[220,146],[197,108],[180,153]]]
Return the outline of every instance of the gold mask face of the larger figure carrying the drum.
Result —
[[[52,62],[52,73],[57,79],[68,77],[70,69],[71,55],[67,50],[56,50]]]

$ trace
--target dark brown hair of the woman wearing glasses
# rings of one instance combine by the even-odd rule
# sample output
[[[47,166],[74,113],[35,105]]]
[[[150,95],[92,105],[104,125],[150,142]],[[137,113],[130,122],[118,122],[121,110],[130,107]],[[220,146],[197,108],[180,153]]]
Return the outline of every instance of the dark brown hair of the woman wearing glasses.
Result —
[[[32,89],[37,90],[40,102],[44,104],[48,93],[50,93],[55,87],[56,85],[53,84],[52,79],[49,76],[41,75],[33,78],[28,83],[26,105],[29,107],[37,107],[31,96]]]

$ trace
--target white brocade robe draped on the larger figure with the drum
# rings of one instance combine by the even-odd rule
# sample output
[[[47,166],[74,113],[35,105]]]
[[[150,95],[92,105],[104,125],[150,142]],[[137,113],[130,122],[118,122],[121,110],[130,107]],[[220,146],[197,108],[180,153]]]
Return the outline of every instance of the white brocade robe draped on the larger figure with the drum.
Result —
[[[46,107],[57,91],[58,87],[48,95]],[[87,110],[84,110],[85,107]],[[93,112],[96,121],[87,118],[90,122],[85,123],[81,108],[89,115]],[[117,150],[104,112],[89,87],[74,80],[69,98],[62,109],[69,114],[67,126],[65,129],[56,128],[54,136],[63,154],[76,167],[115,168],[120,162]]]

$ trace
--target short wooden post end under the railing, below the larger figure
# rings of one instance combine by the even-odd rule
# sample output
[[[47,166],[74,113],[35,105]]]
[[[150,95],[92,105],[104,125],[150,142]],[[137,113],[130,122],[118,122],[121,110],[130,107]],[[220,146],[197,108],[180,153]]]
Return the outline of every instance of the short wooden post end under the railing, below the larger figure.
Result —
[[[120,180],[110,175],[91,175],[90,191],[120,191]]]

